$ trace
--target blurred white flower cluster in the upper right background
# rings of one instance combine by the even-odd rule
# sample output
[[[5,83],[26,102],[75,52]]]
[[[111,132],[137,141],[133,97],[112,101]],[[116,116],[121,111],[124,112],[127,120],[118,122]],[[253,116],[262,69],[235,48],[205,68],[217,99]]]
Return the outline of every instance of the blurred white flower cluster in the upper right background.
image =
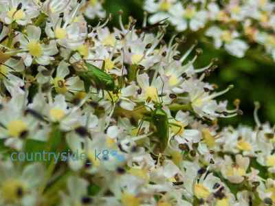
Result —
[[[243,57],[250,45],[263,45],[275,60],[275,4],[268,0],[177,1],[146,0],[144,10],[152,13],[150,23],[168,18],[181,32],[202,32],[214,47]]]

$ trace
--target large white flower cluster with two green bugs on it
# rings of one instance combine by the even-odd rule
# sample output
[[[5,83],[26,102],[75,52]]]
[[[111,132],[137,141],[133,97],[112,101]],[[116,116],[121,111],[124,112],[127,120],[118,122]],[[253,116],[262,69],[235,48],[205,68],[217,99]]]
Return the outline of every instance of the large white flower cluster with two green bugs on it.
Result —
[[[215,100],[232,85],[204,81],[215,60],[195,68],[195,45],[91,26],[98,1],[0,3],[0,205],[275,204],[274,128],[259,105],[254,130],[219,128],[240,101]]]

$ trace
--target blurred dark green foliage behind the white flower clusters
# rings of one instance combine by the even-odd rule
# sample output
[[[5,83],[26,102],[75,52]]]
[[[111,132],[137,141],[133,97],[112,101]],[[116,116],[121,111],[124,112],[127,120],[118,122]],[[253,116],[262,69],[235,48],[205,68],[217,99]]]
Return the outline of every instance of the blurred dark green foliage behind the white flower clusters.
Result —
[[[119,27],[119,10],[123,11],[124,23],[128,21],[128,16],[137,19],[137,25],[143,21],[142,0],[105,0],[103,6],[107,13],[113,15],[113,20],[109,23],[110,27]],[[174,32],[172,26],[169,26],[167,30],[166,39]],[[244,58],[236,58],[223,49],[214,49],[212,43],[206,39],[199,40],[199,34],[182,32],[179,36],[181,35],[186,36],[186,43],[179,48],[182,52],[186,51],[196,39],[199,41],[197,47],[203,49],[203,54],[195,63],[197,68],[208,65],[212,58],[218,58],[219,67],[205,79],[206,81],[217,84],[219,89],[225,89],[229,84],[234,84],[234,89],[222,95],[219,100],[228,100],[230,108],[233,108],[232,102],[236,98],[240,99],[243,115],[220,119],[222,126],[228,124],[254,126],[254,101],[261,103],[259,111],[261,122],[269,121],[272,125],[275,123],[275,63],[270,56],[265,54],[263,48],[250,45],[251,49]]]

